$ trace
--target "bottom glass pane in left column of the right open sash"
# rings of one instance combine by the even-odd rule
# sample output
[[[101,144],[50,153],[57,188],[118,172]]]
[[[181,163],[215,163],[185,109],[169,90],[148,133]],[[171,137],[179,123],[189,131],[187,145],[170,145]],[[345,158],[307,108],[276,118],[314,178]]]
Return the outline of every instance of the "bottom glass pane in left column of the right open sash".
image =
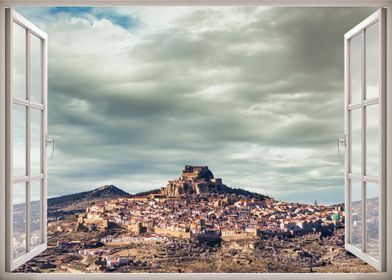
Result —
[[[362,192],[359,181],[351,181],[351,244],[362,247]]]

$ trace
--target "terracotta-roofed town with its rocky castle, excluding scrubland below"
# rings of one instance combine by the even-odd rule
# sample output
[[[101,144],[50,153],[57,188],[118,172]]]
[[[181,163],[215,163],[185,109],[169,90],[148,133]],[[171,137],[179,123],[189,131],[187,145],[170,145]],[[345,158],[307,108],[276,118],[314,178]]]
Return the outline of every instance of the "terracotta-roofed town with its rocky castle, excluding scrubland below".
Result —
[[[215,179],[208,167],[185,166],[181,177],[169,181],[159,193],[95,203],[79,215],[77,227],[105,231],[112,224],[137,235],[229,240],[313,231],[328,235],[343,222],[341,206],[237,195]]]

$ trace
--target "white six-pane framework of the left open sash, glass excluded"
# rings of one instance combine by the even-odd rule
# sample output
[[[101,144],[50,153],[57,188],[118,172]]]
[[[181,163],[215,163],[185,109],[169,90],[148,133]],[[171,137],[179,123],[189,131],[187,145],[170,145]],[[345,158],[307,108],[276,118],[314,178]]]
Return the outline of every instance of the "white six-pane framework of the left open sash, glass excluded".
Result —
[[[6,135],[8,137],[8,147],[7,147],[7,151],[6,151],[6,157],[8,158],[8,161],[10,162],[8,168],[8,174],[10,174],[10,176],[6,176],[6,184],[8,186],[10,186],[9,191],[6,193],[6,199],[9,201],[12,201],[12,193],[13,193],[13,185],[15,183],[25,183],[27,184],[27,191],[26,191],[26,199],[25,199],[25,217],[26,217],[26,253],[24,253],[23,255],[21,255],[20,257],[16,258],[15,260],[13,260],[12,258],[12,244],[6,244],[6,255],[8,256],[8,261],[6,263],[6,269],[9,271],[12,271],[16,268],[18,268],[19,266],[21,266],[22,264],[26,263],[28,260],[30,260],[31,258],[33,258],[34,256],[36,256],[37,254],[43,252],[46,248],[47,248],[47,226],[46,226],[46,222],[44,224],[44,221],[47,220],[47,214],[46,214],[46,203],[47,203],[47,195],[46,195],[46,185],[47,185],[47,170],[46,170],[46,148],[45,148],[45,139],[46,139],[46,134],[47,134],[47,127],[46,127],[46,123],[47,123],[47,67],[46,67],[46,54],[47,54],[47,36],[45,33],[43,33],[39,28],[37,28],[34,24],[32,24],[30,21],[26,20],[23,16],[19,15],[18,13],[16,13],[15,11],[13,11],[12,9],[8,9],[6,12],[6,22],[9,24],[18,24],[19,26],[23,27],[26,31],[27,31],[27,37],[26,37],[26,60],[27,60],[27,67],[26,67],[26,77],[27,77],[27,100],[26,98],[22,99],[18,99],[13,97],[13,93],[12,93],[12,89],[11,89],[11,79],[12,77],[8,77],[9,81],[8,83],[6,83],[8,85],[8,89],[7,91],[11,92],[11,95],[7,95],[6,96],[6,102],[7,102],[7,108],[9,110],[9,112],[7,113],[8,116],[10,116],[10,119],[8,120],[9,123],[12,123],[12,109],[14,107],[14,105],[21,105],[24,106],[24,108],[27,109],[27,119],[26,119],[26,128],[27,128],[27,141],[26,141],[26,168],[27,168],[27,175],[23,175],[23,176],[14,176],[13,174],[13,164],[12,164],[12,153],[13,153],[13,141],[12,141],[12,127],[8,127],[7,128],[7,132]],[[9,30],[12,29],[12,26],[9,26],[9,28],[7,28]],[[42,101],[40,103],[36,103],[31,101],[31,93],[30,93],[30,59],[31,59],[31,52],[30,52],[30,37],[31,36],[35,36],[37,38],[39,38],[42,42],[41,44],[41,75],[42,75],[42,89],[41,89],[41,95],[42,95]],[[6,67],[8,68],[7,71],[12,72],[12,66],[11,66],[11,57],[12,57],[12,34],[7,33],[6,34],[6,43],[8,44],[8,46],[6,47],[6,51],[7,51],[7,56],[8,56],[8,60],[6,61]],[[40,110],[40,112],[42,112],[42,118],[41,118],[41,131],[40,131],[40,135],[41,135],[41,154],[40,154],[40,174],[35,174],[35,175],[31,175],[30,172],[30,150],[31,150],[31,141],[30,141],[30,112],[32,109],[35,110]],[[41,185],[41,190],[40,190],[40,229],[41,229],[41,244],[34,246],[31,248],[30,245],[30,226],[31,226],[31,215],[30,215],[30,190],[31,190],[31,181],[32,180],[39,180],[40,181],[40,185]],[[12,236],[13,236],[13,229],[12,229],[12,218],[13,218],[13,204],[12,203],[8,203],[8,205],[6,205],[6,218],[10,219],[8,221],[8,224],[11,225],[6,234],[8,235],[8,238],[6,238],[7,240],[11,240]]]

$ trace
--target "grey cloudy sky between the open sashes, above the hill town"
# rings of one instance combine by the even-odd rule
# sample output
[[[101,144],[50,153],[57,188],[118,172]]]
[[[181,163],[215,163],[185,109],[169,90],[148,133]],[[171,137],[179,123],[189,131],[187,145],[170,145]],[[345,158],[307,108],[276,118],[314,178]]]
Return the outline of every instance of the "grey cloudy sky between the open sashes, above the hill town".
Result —
[[[342,202],[343,35],[367,8],[19,8],[49,37],[49,196],[159,188],[185,164]]]

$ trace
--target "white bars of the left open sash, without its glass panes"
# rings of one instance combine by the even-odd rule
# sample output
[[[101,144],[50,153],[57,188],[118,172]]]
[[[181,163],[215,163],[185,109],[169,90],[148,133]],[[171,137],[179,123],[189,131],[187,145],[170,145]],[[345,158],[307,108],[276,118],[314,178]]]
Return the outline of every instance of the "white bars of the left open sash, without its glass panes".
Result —
[[[43,33],[40,29],[38,29],[36,26],[34,26],[32,23],[27,21],[25,18],[20,16],[18,13],[14,12],[11,9],[7,9],[6,11],[6,31],[7,31],[7,71],[10,73],[10,75],[7,76],[7,92],[6,94],[6,113],[7,113],[7,141],[6,141],[6,151],[7,151],[7,162],[9,163],[7,165],[7,175],[6,176],[6,224],[7,224],[7,232],[6,232],[6,240],[7,240],[7,246],[6,246],[6,269],[8,271],[12,271],[15,268],[19,267],[26,261],[30,260],[37,254],[41,253],[47,248],[46,245],[46,239],[47,239],[47,228],[46,228],[46,221],[47,221],[47,214],[46,214],[46,182],[47,182],[47,176],[46,176],[46,150],[45,150],[45,145],[44,145],[44,140],[46,136],[46,120],[47,120],[47,115],[46,115],[46,92],[47,92],[47,85],[46,85],[46,54],[47,54],[47,36],[45,33]],[[12,51],[13,51],[13,40],[12,40],[12,32],[13,32],[13,25],[18,24],[21,26],[24,30],[26,30],[26,69],[24,73],[24,78],[25,79],[25,91],[26,91],[26,96],[25,98],[13,98],[13,79],[12,79]],[[40,52],[40,63],[41,63],[41,73],[40,73],[40,81],[41,83],[41,88],[40,92],[42,95],[42,103],[37,103],[33,102],[30,100],[30,79],[31,79],[31,74],[30,74],[30,58],[32,54],[30,52],[30,38],[31,36],[37,37],[41,41],[41,47],[39,49]],[[25,117],[25,129],[26,129],[26,135],[25,135],[25,157],[26,157],[26,163],[25,163],[25,175],[18,175],[14,176],[13,175],[13,111],[14,111],[14,106],[21,106],[26,109],[26,117]],[[39,159],[40,159],[40,165],[39,165],[39,172],[36,173],[31,173],[30,170],[30,165],[31,165],[31,156],[30,156],[30,150],[31,150],[31,112],[32,110],[40,112],[40,120],[37,123],[39,127]],[[32,225],[32,219],[31,219],[31,203],[30,203],[30,190],[31,190],[31,183],[33,180],[38,180],[40,182],[40,195],[39,195],[39,200],[40,200],[40,239],[41,242],[39,244],[31,244],[31,225]],[[17,258],[13,258],[13,188],[15,183],[25,183],[26,186],[26,195],[24,199],[24,232],[26,234],[25,237],[25,248],[26,251],[24,254]]]

